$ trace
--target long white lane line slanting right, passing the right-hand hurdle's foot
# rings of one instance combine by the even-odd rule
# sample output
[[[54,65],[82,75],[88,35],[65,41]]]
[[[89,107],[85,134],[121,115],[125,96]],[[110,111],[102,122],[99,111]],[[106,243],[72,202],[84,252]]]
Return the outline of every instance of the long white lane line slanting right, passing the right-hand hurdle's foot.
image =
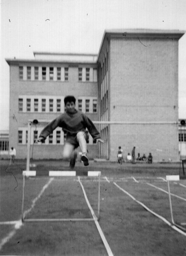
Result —
[[[132,196],[131,194],[129,194],[127,191],[125,191],[124,189],[122,189],[120,186],[118,186],[115,182],[113,182],[113,184],[118,187],[120,190],[122,190],[122,192],[124,192],[125,194],[127,194],[128,196],[130,196],[135,202],[137,202],[137,204],[140,204],[142,207],[144,207],[148,212],[151,212],[153,215],[155,215],[156,217],[160,218],[162,221],[164,221],[166,224],[168,224],[171,228],[173,228],[174,230],[176,230],[177,232],[179,232],[180,234],[182,234],[183,236],[186,236],[186,233],[183,232],[182,230],[180,230],[179,228],[175,227],[174,225],[172,225],[168,220],[166,220],[166,218],[164,218],[163,216],[157,214],[156,212],[153,212],[151,209],[149,209],[148,207],[145,206],[145,204],[141,203],[140,201],[136,200],[136,198],[134,198],[134,196]]]

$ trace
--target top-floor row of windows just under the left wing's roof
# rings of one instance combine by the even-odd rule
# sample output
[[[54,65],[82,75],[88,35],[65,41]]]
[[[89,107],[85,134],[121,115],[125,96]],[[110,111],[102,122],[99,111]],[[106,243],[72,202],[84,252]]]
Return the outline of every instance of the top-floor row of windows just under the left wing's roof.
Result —
[[[20,80],[68,81],[68,67],[31,67],[19,66]],[[97,69],[78,68],[78,81],[97,81]]]

